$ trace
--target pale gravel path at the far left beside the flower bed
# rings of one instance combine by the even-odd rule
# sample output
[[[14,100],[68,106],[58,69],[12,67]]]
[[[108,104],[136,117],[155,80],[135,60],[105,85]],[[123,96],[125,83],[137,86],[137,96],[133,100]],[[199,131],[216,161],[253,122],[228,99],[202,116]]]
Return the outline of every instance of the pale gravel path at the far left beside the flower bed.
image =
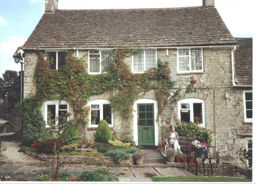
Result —
[[[23,152],[18,152],[19,144],[13,141],[2,141],[0,161],[6,164],[38,166],[38,160]]]

